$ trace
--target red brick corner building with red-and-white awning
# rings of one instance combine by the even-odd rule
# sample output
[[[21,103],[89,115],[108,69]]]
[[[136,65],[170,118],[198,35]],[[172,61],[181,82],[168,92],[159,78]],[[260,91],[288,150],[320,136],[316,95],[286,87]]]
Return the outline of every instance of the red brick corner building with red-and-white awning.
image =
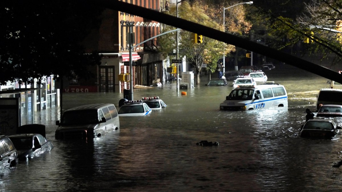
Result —
[[[165,1],[160,0],[123,0],[155,11],[165,10]],[[157,38],[160,34],[160,23],[147,20],[128,13],[105,9],[101,15],[102,23],[84,40],[86,52],[101,53],[101,65],[92,71],[96,78],[83,82],[75,80],[69,83],[69,90],[84,92],[123,92],[130,89],[129,81],[120,81],[119,74],[129,75],[129,32],[133,32],[133,86],[150,86],[164,82],[166,67],[165,58],[158,51]],[[147,39],[150,39],[146,41]],[[169,65],[169,64],[166,64]],[[67,90],[64,90],[66,92]]]

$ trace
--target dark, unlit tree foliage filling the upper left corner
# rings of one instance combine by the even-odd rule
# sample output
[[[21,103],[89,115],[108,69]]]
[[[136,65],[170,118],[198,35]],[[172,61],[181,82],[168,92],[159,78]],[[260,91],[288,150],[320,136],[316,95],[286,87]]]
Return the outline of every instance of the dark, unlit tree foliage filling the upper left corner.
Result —
[[[82,1],[6,1],[0,6],[0,83],[44,75],[88,78],[100,62],[81,46],[102,10]]]

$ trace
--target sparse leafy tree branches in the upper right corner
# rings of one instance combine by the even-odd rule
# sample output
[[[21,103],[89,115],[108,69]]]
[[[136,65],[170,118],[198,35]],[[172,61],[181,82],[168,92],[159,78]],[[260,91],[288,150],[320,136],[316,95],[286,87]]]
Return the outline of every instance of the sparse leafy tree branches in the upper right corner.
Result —
[[[342,4],[340,1],[311,0],[304,9],[304,14],[297,17],[297,23],[308,31],[310,51],[322,53],[322,58],[331,53],[337,60],[342,59]],[[313,35],[312,35],[313,34]]]

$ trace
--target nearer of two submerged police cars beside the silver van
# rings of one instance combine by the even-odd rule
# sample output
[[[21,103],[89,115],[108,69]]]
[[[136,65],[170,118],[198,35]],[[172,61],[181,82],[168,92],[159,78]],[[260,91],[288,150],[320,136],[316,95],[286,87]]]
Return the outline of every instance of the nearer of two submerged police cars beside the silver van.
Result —
[[[118,111],[119,116],[144,116],[152,110],[142,100],[126,101]]]

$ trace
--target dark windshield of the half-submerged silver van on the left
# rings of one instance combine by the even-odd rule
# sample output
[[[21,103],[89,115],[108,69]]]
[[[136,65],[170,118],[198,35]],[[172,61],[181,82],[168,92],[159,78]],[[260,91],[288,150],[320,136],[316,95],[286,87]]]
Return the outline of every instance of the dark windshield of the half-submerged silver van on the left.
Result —
[[[63,125],[97,124],[98,114],[96,109],[65,111]]]

